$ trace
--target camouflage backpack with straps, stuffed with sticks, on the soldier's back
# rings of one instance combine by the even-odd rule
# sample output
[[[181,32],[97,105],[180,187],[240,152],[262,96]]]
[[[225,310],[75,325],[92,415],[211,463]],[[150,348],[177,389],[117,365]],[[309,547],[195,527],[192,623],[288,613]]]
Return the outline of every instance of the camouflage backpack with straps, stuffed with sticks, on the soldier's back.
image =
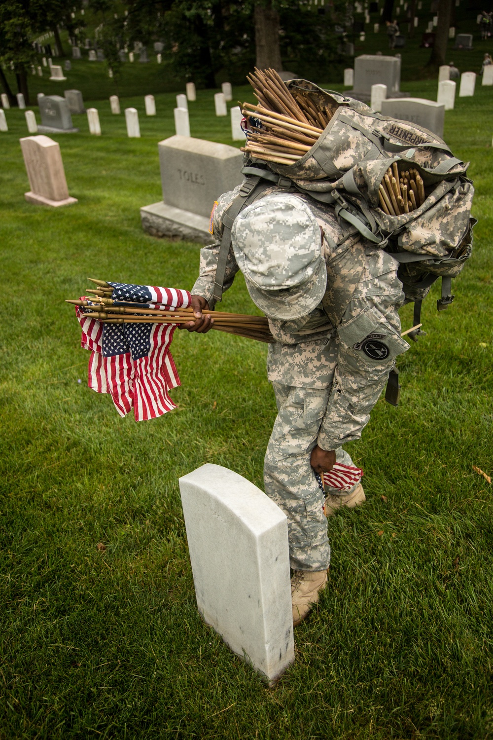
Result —
[[[466,178],[469,163],[452,155],[445,142],[427,129],[397,121],[371,110],[353,98],[322,90],[306,80],[292,80],[289,90],[301,92],[332,117],[316,144],[291,165],[266,164],[248,159],[242,169],[242,189],[222,216],[222,243],[214,298],[220,300],[234,219],[262,189],[276,184],[296,188],[316,201],[334,207],[344,228],[386,249],[398,260],[398,277],[406,302],[415,301],[413,324],[420,323],[421,301],[438,277],[442,278],[438,310],[448,308],[454,296],[451,279],[471,255],[470,210],[474,188]],[[402,215],[389,215],[378,192],[387,169],[412,167],[421,175],[424,202]],[[409,336],[417,340],[420,329]]]

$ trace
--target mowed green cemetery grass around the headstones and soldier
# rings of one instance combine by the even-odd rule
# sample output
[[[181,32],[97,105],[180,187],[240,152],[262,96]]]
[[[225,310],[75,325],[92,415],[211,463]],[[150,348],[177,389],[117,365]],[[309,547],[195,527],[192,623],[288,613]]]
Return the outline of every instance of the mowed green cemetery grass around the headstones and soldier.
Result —
[[[403,88],[433,98],[436,83]],[[178,408],[137,424],[86,388],[88,354],[63,303],[86,276],[193,285],[198,246],[140,228],[139,207],[160,200],[157,141],[174,132],[174,95],[157,95],[156,118],[142,98],[122,101],[140,111],[140,140],[106,101],[101,138],[85,116],[78,135],[53,137],[78,198],[62,209],[24,201],[24,114],[7,112],[0,738],[493,736],[492,487],[472,470],[493,473],[492,94],[446,113],[446,140],[472,162],[473,258],[448,311],[436,312],[438,287],[424,304],[427,336],[399,361],[401,406],[378,401],[350,445],[367,504],[330,519],[329,587],[274,690],[197,613],[177,482],[215,462],[262,487],[276,414],[265,346],[177,332]],[[190,110],[192,135],[231,143],[212,91]],[[241,275],[222,307],[256,312]],[[401,315],[412,326],[411,307]]]

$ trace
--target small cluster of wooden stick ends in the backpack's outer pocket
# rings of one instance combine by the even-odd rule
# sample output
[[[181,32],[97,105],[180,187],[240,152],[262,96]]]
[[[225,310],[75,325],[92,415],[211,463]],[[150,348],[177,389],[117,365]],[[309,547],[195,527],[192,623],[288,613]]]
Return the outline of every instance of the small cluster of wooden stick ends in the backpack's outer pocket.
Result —
[[[422,206],[426,195],[424,183],[417,169],[401,169],[397,162],[387,169],[378,188],[381,209],[389,216],[401,216]]]

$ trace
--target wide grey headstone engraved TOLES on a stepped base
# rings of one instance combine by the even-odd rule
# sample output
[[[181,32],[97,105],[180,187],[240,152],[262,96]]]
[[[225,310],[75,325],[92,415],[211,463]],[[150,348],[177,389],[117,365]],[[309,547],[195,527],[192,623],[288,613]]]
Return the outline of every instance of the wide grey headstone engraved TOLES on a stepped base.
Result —
[[[160,141],[158,148],[163,201],[140,209],[143,229],[154,236],[211,243],[212,206],[242,182],[242,152],[180,135]]]

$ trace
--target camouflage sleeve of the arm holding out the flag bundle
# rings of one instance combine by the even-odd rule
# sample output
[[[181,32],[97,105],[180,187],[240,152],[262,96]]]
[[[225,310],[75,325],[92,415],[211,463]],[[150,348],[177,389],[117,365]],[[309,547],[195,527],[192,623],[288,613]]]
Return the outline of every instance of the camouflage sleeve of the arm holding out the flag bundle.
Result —
[[[208,301],[209,306],[214,308],[216,301],[213,300],[214,281],[216,280],[217,260],[219,259],[220,243],[222,238],[222,214],[228,208],[230,203],[236,198],[240,186],[237,186],[231,192],[221,195],[214,207],[212,215],[212,232],[215,238],[214,243],[204,246],[200,250],[200,275],[195,280],[194,287],[191,289],[193,295],[201,295]],[[237,274],[239,267],[237,260],[234,258],[233,247],[229,247],[228,261],[226,263],[226,272],[223,290],[228,290],[233,284],[234,276]]]

